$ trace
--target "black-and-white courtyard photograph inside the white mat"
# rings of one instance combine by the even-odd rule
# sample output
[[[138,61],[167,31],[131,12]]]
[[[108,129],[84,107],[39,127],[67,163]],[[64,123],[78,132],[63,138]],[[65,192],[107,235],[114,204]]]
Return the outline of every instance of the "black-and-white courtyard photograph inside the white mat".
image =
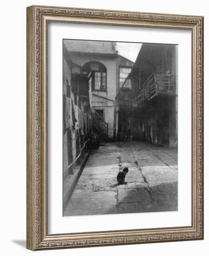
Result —
[[[63,40],[63,216],[178,210],[177,49]]]

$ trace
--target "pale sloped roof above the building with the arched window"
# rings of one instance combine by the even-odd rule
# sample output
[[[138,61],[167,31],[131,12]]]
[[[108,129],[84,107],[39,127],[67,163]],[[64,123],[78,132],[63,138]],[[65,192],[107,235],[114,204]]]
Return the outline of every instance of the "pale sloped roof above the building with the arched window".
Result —
[[[64,40],[70,52],[118,54],[116,42],[93,40]]]

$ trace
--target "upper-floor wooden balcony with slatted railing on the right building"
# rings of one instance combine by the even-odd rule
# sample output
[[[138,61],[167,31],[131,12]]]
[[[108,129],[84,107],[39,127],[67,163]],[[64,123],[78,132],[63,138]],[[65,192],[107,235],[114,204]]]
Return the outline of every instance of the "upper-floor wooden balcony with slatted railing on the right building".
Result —
[[[133,98],[133,104],[149,101],[157,95],[175,95],[175,75],[171,73],[153,73],[139,88]]]

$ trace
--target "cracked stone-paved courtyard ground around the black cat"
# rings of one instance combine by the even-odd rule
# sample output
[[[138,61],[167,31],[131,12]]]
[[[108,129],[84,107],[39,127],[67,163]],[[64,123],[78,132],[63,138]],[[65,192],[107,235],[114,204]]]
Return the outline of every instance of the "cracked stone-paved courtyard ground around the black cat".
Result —
[[[126,185],[118,185],[127,166]],[[139,141],[92,150],[64,216],[177,210],[177,150]]]

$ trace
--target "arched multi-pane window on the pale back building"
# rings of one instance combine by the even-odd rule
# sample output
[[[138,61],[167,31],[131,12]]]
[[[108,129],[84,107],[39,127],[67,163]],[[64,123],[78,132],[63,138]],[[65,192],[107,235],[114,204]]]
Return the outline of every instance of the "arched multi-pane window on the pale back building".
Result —
[[[91,72],[91,89],[92,91],[107,90],[107,69],[104,64],[98,61],[89,61],[82,68],[83,74]]]

